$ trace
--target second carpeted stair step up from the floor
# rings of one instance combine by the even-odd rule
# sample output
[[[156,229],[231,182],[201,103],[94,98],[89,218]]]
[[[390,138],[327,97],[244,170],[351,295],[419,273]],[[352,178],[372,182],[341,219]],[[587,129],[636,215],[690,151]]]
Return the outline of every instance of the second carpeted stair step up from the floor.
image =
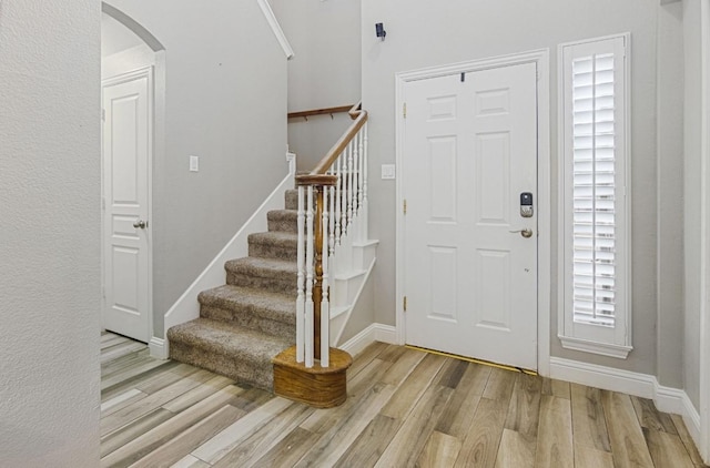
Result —
[[[294,326],[296,324],[296,303],[293,296],[285,294],[227,284],[203,291],[197,301],[204,307],[253,314]]]

